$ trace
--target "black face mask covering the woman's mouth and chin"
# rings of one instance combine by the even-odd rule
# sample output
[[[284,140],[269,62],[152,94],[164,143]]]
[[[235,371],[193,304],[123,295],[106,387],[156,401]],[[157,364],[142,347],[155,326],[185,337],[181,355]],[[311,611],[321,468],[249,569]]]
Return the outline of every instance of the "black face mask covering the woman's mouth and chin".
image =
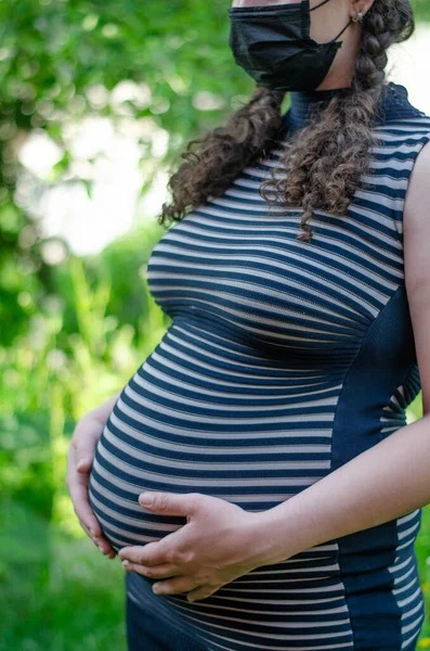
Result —
[[[342,41],[337,39],[348,25],[328,43],[310,37],[310,0],[295,4],[269,7],[232,7],[229,46],[237,65],[257,81],[272,90],[314,90],[327,76]]]

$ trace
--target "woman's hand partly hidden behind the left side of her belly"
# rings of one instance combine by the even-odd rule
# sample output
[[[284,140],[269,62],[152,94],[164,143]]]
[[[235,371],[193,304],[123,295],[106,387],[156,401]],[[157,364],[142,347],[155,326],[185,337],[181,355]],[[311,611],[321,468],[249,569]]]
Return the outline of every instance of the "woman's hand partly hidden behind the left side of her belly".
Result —
[[[120,392],[116,393],[103,403],[103,405],[100,405],[78,421],[67,454],[66,484],[75,513],[86,534],[110,559],[116,557],[116,551],[104,537],[99,521],[90,506],[88,484],[95,446],[119,394]]]

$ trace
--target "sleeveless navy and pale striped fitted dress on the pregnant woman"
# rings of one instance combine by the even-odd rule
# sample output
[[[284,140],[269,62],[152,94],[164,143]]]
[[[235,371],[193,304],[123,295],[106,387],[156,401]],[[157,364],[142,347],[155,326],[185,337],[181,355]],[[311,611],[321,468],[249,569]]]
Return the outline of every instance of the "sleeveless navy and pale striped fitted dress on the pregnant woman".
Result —
[[[299,210],[269,210],[258,193],[286,113],[274,149],[155,245],[149,290],[172,324],[118,397],[89,485],[117,550],[185,524],[144,511],[145,489],[262,511],[406,424],[420,378],[402,219],[430,117],[392,82],[383,102],[366,188],[342,217],[317,212],[311,242],[296,239]],[[156,596],[136,573],[127,592],[201,651],[413,651],[420,518],[304,549],[200,601]]]

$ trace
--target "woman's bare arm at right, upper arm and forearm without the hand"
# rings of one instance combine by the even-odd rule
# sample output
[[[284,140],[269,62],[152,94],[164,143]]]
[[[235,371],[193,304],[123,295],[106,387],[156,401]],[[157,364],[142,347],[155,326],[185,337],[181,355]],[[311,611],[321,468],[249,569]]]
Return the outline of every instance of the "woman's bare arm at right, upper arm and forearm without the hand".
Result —
[[[291,499],[260,513],[260,526],[269,541],[269,562],[430,503],[429,178],[430,143],[416,161],[404,210],[405,282],[425,417],[399,429]]]

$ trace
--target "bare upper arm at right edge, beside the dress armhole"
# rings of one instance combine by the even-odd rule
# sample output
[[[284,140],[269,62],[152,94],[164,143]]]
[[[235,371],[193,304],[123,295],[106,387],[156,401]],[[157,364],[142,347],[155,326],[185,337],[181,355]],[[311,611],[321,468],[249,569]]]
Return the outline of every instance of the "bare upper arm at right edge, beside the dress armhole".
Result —
[[[425,413],[430,412],[430,142],[411,174],[403,214],[405,284]]]

